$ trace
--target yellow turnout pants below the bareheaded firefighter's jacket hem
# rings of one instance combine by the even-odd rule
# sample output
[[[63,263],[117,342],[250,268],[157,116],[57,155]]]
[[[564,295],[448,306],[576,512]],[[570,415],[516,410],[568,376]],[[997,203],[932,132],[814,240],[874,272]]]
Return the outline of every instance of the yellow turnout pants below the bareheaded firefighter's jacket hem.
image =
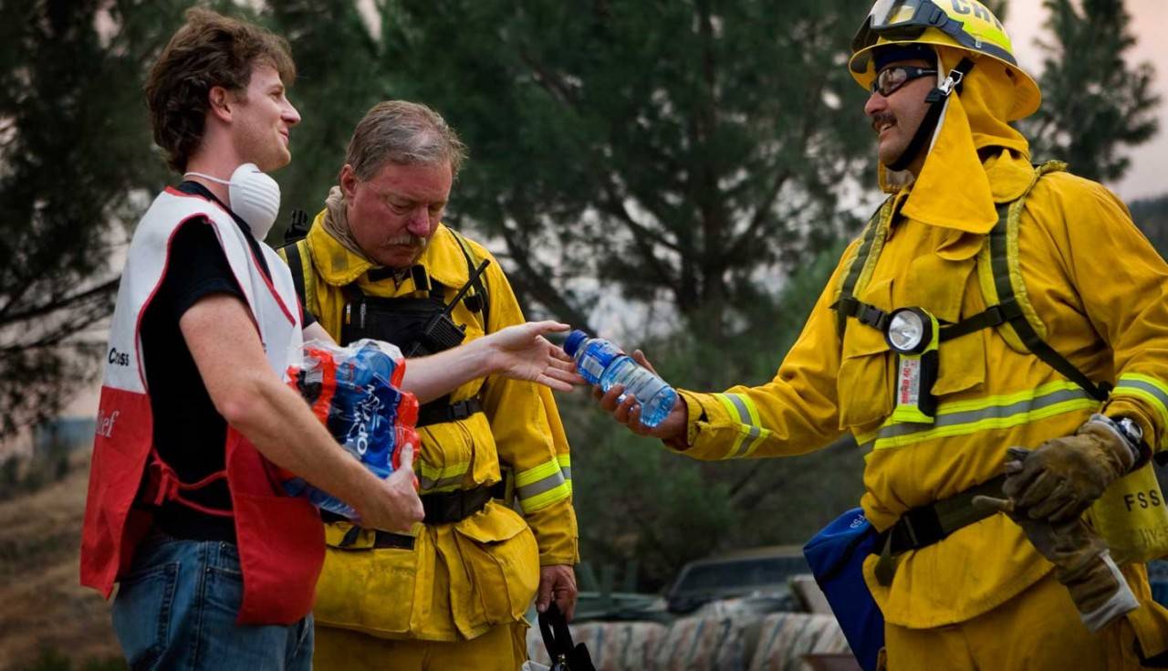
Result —
[[[527,660],[527,623],[499,624],[470,641],[390,641],[317,627],[317,671],[516,671]]]

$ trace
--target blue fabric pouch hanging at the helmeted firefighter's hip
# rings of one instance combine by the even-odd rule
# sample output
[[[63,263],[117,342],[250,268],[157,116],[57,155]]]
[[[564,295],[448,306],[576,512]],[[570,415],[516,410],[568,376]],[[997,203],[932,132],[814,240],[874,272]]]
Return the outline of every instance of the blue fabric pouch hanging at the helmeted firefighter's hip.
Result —
[[[804,546],[815,582],[864,671],[876,671],[884,648],[884,615],[864,582],[864,559],[880,553],[880,534],[862,509],[837,517]]]

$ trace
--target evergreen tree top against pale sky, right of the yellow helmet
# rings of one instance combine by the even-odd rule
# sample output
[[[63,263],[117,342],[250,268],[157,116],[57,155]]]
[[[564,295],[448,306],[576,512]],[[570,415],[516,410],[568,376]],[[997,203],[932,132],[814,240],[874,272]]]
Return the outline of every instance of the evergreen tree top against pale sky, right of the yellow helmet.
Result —
[[[1160,96],[1152,63],[1129,65],[1135,44],[1122,0],[1044,0],[1050,41],[1040,41],[1042,109],[1021,124],[1036,160],[1066,160],[1093,180],[1115,180],[1131,167],[1124,147],[1157,131]],[[1082,7],[1082,8],[1079,8]]]

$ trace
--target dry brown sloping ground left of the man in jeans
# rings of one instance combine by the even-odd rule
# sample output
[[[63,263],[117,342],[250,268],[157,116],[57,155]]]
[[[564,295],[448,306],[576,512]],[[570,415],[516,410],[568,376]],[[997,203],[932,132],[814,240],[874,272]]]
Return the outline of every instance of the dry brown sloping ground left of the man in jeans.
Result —
[[[78,583],[88,462],[35,493],[0,501],[0,671],[42,649],[82,660],[119,655],[102,596]]]

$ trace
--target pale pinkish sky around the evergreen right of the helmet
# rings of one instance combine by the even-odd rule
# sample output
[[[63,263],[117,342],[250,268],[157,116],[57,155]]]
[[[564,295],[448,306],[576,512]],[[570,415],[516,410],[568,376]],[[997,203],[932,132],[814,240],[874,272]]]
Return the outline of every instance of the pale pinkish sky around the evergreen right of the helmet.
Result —
[[[1127,177],[1108,184],[1124,200],[1150,198],[1168,193],[1168,2],[1164,0],[1126,0],[1132,16],[1132,33],[1138,42],[1127,54],[1128,63],[1150,61],[1156,68],[1155,90],[1162,101],[1156,116],[1160,132],[1147,144],[1128,151],[1132,166]],[[1043,34],[1047,12],[1038,0],[1013,0],[1006,28],[1014,41],[1018,64],[1035,76],[1042,67],[1042,51],[1034,44]],[[1056,157],[1057,158],[1057,157]],[[1071,166],[1071,171],[1075,166]]]

